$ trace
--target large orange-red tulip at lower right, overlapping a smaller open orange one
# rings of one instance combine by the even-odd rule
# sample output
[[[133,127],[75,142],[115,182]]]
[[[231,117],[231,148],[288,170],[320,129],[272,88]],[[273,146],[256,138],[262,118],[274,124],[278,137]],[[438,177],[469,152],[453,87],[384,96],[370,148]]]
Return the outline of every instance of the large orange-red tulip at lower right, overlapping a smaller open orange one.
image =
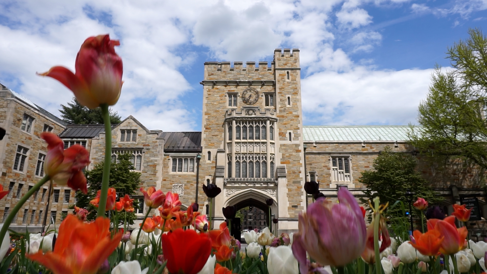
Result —
[[[448,216],[444,220],[429,219],[427,225],[428,231],[436,230],[444,237],[440,247],[441,253],[455,254],[464,248],[468,231],[466,227],[456,228],[454,216]]]

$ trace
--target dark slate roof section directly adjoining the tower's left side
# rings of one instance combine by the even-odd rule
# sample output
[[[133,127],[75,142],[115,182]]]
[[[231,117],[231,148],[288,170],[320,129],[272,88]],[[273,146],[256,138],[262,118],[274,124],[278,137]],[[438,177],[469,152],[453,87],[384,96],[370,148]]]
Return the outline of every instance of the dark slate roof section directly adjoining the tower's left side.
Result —
[[[201,152],[201,132],[162,132],[165,152]]]

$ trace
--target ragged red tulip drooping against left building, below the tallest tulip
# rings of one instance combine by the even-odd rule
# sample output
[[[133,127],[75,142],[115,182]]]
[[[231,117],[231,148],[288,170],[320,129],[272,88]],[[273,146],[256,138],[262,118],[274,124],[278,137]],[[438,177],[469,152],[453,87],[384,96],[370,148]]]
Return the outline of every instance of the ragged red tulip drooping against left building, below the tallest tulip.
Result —
[[[47,155],[44,171],[57,185],[67,185],[73,190],[88,193],[83,168],[90,163],[88,151],[73,145],[64,149],[64,142],[57,135],[43,132],[40,137],[47,142]]]

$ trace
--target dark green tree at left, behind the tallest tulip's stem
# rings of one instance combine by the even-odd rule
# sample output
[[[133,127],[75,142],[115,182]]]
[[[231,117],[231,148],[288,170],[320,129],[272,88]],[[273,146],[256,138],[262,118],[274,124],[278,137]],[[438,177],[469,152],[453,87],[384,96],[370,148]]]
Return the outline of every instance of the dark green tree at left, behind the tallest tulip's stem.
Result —
[[[110,167],[110,181],[109,186],[115,188],[118,197],[123,197],[126,194],[132,196],[140,187],[140,173],[133,171],[133,164],[131,162],[131,154],[118,155],[117,161],[112,162]],[[101,189],[101,178],[103,176],[103,162],[94,166],[93,170],[86,172],[88,180],[88,194],[84,195],[80,191],[76,192],[76,206],[88,210],[88,220],[94,220],[96,217],[97,208],[90,204],[90,201],[96,197],[98,190]],[[139,208],[138,201],[133,201],[134,207]],[[122,222],[124,215],[120,217]],[[127,220],[133,224],[136,216],[134,213],[127,214]]]

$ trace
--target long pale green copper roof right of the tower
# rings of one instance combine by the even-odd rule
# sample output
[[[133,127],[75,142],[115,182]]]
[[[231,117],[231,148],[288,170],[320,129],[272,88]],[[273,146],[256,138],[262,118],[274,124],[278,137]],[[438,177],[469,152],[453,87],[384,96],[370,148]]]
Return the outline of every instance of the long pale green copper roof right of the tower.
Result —
[[[303,126],[306,141],[407,141],[409,126]]]

